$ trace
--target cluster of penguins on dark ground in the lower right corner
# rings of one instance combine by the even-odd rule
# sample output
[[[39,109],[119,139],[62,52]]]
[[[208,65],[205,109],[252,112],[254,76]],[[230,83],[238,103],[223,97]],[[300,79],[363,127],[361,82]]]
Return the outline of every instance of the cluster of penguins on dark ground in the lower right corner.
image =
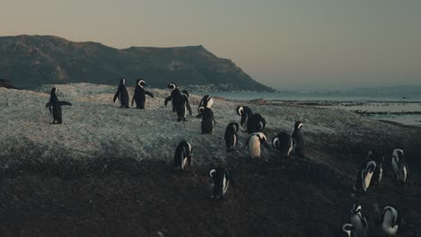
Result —
[[[357,172],[354,191],[367,192],[370,184],[379,184],[383,174],[384,156],[370,151],[367,159]],[[391,166],[395,179],[403,184],[408,183],[407,162],[402,149],[394,149],[391,156]],[[400,215],[394,206],[384,206],[381,212],[381,232],[385,236],[396,236],[400,224]],[[362,214],[362,206],[354,205],[351,210],[351,224],[344,224],[342,230],[347,237],[368,236],[369,227],[367,220]]]

